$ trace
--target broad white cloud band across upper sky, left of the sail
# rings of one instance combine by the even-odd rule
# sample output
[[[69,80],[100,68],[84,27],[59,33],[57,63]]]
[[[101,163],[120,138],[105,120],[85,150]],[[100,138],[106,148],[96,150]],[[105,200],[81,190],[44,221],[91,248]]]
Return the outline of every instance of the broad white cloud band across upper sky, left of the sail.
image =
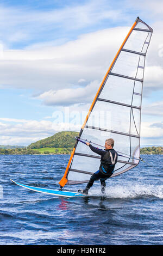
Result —
[[[81,77],[87,83],[102,81],[128,30],[104,29],[39,50],[6,50],[0,61],[0,84],[45,92],[78,87]]]

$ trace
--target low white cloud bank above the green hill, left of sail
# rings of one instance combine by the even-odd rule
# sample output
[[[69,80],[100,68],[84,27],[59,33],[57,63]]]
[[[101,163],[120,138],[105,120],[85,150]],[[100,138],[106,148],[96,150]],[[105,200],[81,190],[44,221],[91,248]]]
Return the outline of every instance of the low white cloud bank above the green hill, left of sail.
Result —
[[[47,120],[26,120],[16,119],[16,124],[0,122],[0,144],[6,145],[29,145],[32,142],[47,138],[59,131],[79,131],[80,125],[73,123],[55,123]],[[12,121],[12,119],[10,120]]]

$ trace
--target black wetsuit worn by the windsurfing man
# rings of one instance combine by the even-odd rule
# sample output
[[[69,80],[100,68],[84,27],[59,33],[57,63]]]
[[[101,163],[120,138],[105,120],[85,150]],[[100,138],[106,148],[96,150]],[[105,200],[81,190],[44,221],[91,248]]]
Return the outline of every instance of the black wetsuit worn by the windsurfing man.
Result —
[[[102,191],[104,191],[106,186],[105,180],[108,179],[114,172],[115,164],[117,162],[117,153],[114,149],[101,150],[93,147],[91,144],[89,145],[89,147],[93,152],[101,155],[101,164],[99,166],[99,170],[97,170],[97,172],[91,176],[89,182],[86,185],[86,190],[89,190],[95,180],[100,180]],[[111,157],[115,160],[114,164],[112,164],[113,162],[111,161]]]

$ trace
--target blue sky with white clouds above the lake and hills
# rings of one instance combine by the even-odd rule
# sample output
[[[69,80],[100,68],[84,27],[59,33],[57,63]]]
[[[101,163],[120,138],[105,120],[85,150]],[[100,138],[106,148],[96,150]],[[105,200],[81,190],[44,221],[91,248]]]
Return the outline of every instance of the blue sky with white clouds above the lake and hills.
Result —
[[[87,112],[140,16],[154,29],[146,60],[141,145],[162,145],[162,11],[158,0],[1,1],[0,144],[28,145],[53,135],[59,131],[54,115],[65,107]]]

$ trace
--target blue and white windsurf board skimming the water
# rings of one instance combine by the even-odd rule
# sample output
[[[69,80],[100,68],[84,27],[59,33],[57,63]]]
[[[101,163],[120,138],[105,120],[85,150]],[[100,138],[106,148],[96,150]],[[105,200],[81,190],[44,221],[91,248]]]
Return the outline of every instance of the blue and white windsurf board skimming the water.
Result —
[[[33,187],[33,186],[28,186],[28,185],[18,183],[14,180],[11,180],[11,181],[14,182],[18,186],[27,188],[28,190],[33,190],[33,191],[45,193],[45,194],[51,194],[53,196],[59,196],[59,197],[84,197],[85,196],[84,194],[77,193],[77,192],[62,191],[62,190],[49,190],[48,188]]]

